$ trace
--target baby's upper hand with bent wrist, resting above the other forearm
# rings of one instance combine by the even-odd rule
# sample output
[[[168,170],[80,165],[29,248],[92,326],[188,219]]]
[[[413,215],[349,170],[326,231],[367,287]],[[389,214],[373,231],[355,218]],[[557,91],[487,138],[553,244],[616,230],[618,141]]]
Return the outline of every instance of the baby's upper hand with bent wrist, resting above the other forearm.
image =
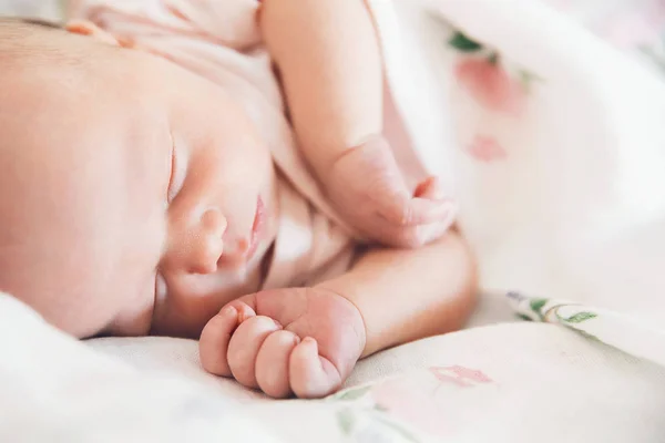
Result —
[[[393,247],[420,247],[441,237],[454,219],[436,177],[410,192],[388,142],[372,137],[319,174],[336,209],[370,240]]]

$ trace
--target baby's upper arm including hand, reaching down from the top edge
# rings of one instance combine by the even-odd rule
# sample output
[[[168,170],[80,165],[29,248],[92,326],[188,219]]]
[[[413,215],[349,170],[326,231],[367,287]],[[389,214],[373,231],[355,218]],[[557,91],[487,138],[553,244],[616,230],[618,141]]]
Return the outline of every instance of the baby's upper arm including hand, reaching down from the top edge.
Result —
[[[431,178],[409,189],[382,136],[383,65],[365,2],[264,0],[259,20],[300,150],[340,215],[389,246],[439,237],[452,204]]]

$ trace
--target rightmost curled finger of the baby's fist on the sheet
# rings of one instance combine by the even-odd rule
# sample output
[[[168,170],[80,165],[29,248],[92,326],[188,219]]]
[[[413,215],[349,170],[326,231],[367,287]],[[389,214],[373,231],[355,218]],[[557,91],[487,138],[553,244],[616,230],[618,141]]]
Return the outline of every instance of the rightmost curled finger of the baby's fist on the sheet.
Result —
[[[289,360],[289,382],[300,399],[318,399],[335,392],[341,385],[341,375],[330,361],[318,354],[318,344],[306,338]]]

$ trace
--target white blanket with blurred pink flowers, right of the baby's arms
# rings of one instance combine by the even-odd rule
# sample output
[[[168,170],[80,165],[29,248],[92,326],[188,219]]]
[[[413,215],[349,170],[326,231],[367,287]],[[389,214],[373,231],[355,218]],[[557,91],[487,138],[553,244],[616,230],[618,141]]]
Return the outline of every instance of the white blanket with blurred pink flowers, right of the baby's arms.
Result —
[[[630,56],[655,53],[663,38],[618,51],[535,0],[426,3],[412,13],[438,82],[422,87],[437,84],[452,113],[456,143],[440,157],[452,164],[482,288],[662,323],[665,72]],[[651,0],[570,8],[591,16],[592,3],[610,18],[622,4],[626,17],[626,4],[653,16],[647,6],[659,3],[665,17]],[[405,113],[418,124],[416,106]]]

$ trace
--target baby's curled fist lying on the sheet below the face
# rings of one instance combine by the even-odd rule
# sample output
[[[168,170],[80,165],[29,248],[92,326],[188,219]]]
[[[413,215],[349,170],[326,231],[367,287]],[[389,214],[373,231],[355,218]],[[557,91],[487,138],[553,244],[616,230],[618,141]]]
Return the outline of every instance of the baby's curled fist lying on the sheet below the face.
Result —
[[[205,326],[203,368],[274,398],[335,392],[365,348],[358,309],[332,291],[276,289],[234,300]]]

